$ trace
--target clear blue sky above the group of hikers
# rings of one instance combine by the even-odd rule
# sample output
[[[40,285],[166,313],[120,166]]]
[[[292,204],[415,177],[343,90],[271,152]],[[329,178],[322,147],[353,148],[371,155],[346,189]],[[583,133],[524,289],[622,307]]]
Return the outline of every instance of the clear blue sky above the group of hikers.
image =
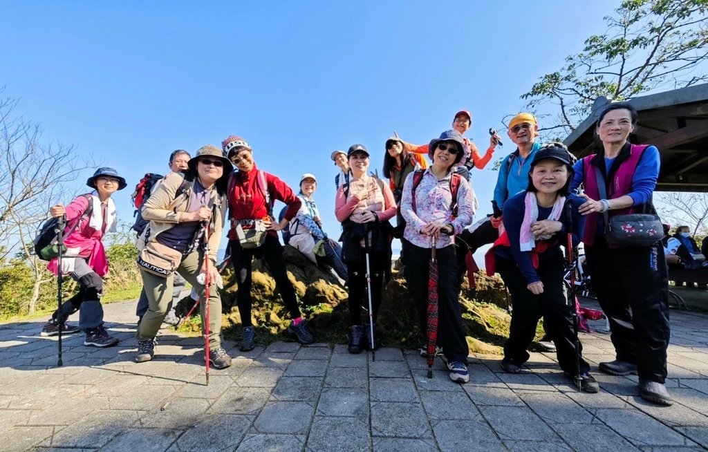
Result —
[[[331,151],[365,144],[380,173],[394,129],[424,143],[463,108],[484,151],[489,127],[503,129],[520,95],[602,33],[618,4],[1,1],[1,95],[20,98],[16,112],[45,139],[127,179],[114,195],[122,220],[132,223],[135,183],[167,171],[173,149],[239,134],[294,190],[302,173],[317,176],[336,236]],[[502,136],[494,160],[514,150]],[[495,171],[473,171],[477,218],[495,182]]]

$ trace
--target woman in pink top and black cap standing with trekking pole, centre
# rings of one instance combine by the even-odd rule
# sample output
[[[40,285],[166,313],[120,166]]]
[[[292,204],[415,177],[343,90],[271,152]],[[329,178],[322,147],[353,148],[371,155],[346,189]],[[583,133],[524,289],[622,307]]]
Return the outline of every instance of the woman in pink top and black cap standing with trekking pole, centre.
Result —
[[[374,324],[381,304],[381,289],[387,266],[391,267],[391,237],[388,223],[396,214],[396,202],[389,185],[367,175],[369,151],[362,144],[353,144],[347,153],[351,178],[348,187],[341,187],[335,199],[335,215],[342,223],[342,260],[349,277],[349,352],[361,353],[370,328],[362,325],[362,303],[367,288],[369,262]],[[369,339],[369,349],[377,347]]]

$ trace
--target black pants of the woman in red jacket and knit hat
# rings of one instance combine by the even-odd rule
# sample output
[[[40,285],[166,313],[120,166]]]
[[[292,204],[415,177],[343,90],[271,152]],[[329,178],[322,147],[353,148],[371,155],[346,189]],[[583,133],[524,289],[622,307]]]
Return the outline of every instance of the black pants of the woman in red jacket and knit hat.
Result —
[[[275,279],[275,289],[280,293],[290,318],[298,318],[300,309],[297,306],[297,295],[290,279],[287,279],[285,261],[282,260],[282,245],[278,237],[271,233],[265,234],[265,242],[258,248],[241,248],[238,239],[229,242],[231,247],[231,262],[236,272],[239,290],[236,293],[236,303],[241,314],[241,325],[252,326],[251,320],[251,262],[255,256],[264,259]]]

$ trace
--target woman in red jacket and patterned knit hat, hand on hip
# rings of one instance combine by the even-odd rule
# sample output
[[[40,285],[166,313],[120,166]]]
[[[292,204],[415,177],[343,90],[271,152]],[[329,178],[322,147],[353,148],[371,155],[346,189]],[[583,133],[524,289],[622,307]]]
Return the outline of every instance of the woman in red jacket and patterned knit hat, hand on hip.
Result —
[[[257,168],[256,161],[253,159],[253,149],[243,138],[235,135],[227,137],[222,141],[222,149],[238,169],[229,180],[228,199],[231,220],[229,249],[239,283],[236,303],[244,327],[239,349],[246,352],[255,347],[256,329],[251,319],[253,257],[265,259],[275,279],[275,289],[282,297],[285,308],[292,318],[292,323],[287,327],[288,334],[294,336],[301,344],[311,344],[314,342],[314,337],[300,313],[295,288],[287,278],[285,261],[282,259],[282,245],[276,234],[295,218],[302,206],[302,201],[285,182]],[[287,205],[287,211],[280,222],[276,222],[273,216],[275,199]],[[258,230],[264,233],[258,234]],[[253,231],[261,237],[261,241],[247,243]]]

